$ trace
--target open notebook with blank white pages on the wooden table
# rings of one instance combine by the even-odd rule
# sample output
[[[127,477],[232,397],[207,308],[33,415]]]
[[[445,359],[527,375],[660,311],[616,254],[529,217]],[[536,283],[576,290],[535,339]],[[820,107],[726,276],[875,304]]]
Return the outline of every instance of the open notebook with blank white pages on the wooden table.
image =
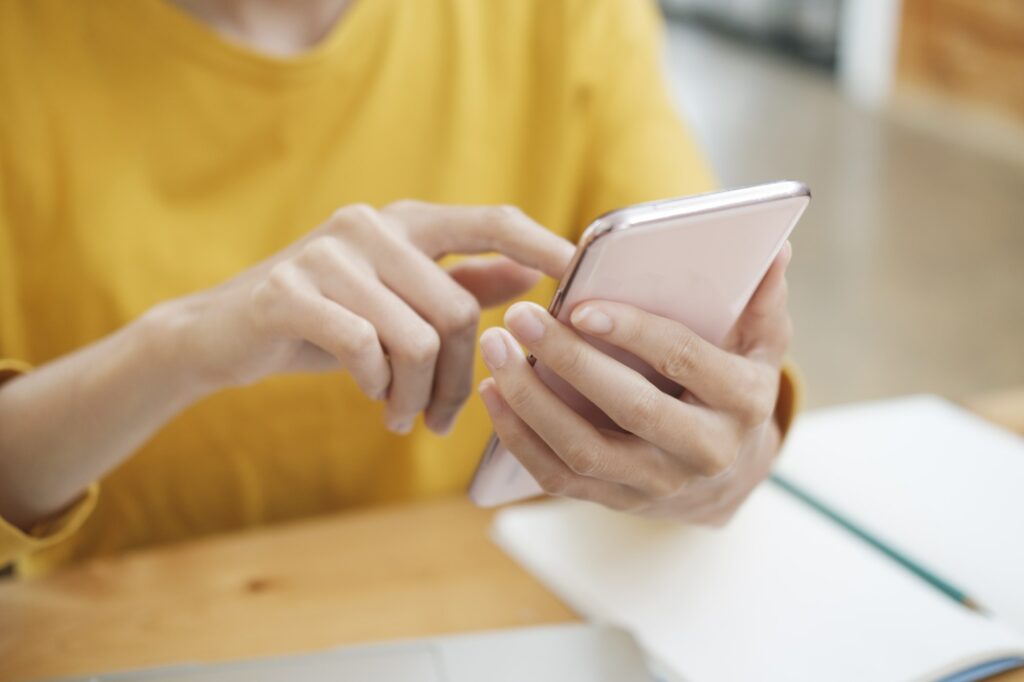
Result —
[[[778,473],[985,613],[774,483],[721,530],[558,501],[503,510],[495,538],[669,679],[959,681],[1024,663],[1021,438],[912,396],[803,417]]]

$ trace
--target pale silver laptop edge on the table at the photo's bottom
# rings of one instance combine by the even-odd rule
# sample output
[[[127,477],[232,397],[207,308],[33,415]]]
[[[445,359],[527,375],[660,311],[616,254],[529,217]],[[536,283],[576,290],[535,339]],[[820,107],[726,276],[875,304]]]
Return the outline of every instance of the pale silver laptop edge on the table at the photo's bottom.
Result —
[[[582,624],[77,678],[96,682],[652,682],[623,630]],[[70,681],[69,681],[70,682]]]

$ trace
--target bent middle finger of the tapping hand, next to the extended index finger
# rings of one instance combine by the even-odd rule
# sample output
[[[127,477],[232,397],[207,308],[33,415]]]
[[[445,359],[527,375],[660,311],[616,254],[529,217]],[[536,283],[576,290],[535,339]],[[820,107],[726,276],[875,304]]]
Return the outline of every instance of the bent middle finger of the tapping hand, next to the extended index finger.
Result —
[[[382,236],[381,281],[433,327],[440,341],[426,425],[447,433],[473,390],[473,356],[480,305],[447,272],[397,236]]]

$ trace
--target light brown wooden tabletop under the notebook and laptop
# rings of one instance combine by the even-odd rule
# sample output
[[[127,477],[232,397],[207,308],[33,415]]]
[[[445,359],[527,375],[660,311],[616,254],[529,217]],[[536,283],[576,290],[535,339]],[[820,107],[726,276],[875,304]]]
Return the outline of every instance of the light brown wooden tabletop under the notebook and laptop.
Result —
[[[1006,395],[1016,409],[968,403],[1020,428],[1024,392]],[[492,516],[462,498],[377,508],[0,584],[0,679],[577,620],[487,540]]]

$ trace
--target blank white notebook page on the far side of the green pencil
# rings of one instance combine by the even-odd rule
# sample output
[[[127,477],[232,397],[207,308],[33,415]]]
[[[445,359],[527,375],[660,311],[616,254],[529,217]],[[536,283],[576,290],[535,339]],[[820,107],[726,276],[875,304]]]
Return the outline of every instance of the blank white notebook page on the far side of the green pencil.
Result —
[[[777,470],[1024,633],[1024,439],[915,395],[808,413]]]

